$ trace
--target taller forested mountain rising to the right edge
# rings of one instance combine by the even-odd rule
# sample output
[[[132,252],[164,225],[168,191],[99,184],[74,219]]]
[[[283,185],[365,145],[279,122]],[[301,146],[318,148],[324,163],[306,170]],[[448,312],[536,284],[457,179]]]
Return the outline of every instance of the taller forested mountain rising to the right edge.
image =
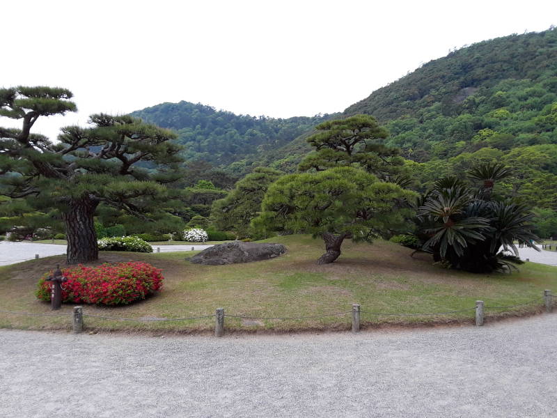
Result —
[[[557,31],[511,35],[430,61],[348,107],[386,123],[423,162],[490,146],[557,144]]]

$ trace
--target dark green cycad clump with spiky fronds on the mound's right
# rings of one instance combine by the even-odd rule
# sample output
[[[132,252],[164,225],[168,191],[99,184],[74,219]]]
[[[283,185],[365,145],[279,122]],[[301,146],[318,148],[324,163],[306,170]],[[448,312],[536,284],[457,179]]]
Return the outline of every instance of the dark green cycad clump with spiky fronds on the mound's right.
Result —
[[[491,173],[489,178],[503,178],[507,172],[505,167],[480,166],[469,176]],[[493,201],[491,190],[485,193],[485,185],[478,193],[456,178],[441,179],[422,196],[417,213],[416,235],[423,250],[452,268],[510,271],[512,263],[521,263],[515,242],[538,249],[535,242],[539,238],[530,224],[533,214],[523,205]]]

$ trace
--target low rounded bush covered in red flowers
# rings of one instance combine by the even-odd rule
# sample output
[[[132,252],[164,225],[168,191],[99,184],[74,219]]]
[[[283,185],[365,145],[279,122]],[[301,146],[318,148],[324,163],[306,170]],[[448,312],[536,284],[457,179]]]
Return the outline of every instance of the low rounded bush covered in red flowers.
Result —
[[[99,267],[64,269],[68,281],[62,284],[62,302],[94,303],[104,305],[130,304],[145,299],[162,288],[159,268],[148,263],[103,264]],[[46,273],[38,282],[38,299],[50,301],[52,284],[45,281],[52,272]]]

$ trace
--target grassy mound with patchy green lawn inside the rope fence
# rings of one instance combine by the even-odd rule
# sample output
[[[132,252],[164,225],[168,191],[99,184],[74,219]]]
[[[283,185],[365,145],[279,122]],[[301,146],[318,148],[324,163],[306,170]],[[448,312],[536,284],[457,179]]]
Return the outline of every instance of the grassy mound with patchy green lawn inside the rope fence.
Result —
[[[526,263],[513,274],[470,274],[432,265],[426,254],[410,257],[411,250],[378,240],[373,245],[343,245],[336,263],[316,265],[322,254],[320,240],[307,235],[290,235],[267,240],[288,247],[284,256],[258,263],[236,265],[194,265],[186,258],[198,251],[139,254],[102,252],[101,261],[143,260],[162,268],[164,289],[159,295],[129,307],[87,306],[91,314],[125,318],[183,318],[214,314],[223,307],[226,314],[284,318],[315,316],[350,311],[361,304],[363,326],[416,323],[471,322],[476,300],[486,306],[519,304],[538,298],[539,302],[510,312],[488,310],[489,316],[530,314],[542,308],[544,289],[557,293],[557,268]],[[33,295],[40,275],[52,269],[63,256],[41,258],[0,268],[0,306],[11,311],[49,313],[49,304]],[[72,306],[62,312],[70,313]],[[438,316],[376,316],[416,314],[470,309]],[[0,313],[0,327],[68,329],[69,317],[16,316]],[[86,327],[97,330],[152,332],[212,332],[214,318],[182,322],[130,322],[85,318]],[[248,325],[239,318],[226,318],[227,330],[346,330],[350,315],[299,320],[262,320]]]

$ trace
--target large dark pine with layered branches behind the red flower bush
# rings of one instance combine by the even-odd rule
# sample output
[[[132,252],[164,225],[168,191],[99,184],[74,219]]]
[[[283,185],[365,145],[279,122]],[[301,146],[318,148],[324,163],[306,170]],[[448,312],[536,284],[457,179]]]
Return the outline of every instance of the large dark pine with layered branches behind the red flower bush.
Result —
[[[93,216],[100,204],[145,219],[157,211],[180,150],[171,131],[130,116],[93,115],[93,127],[64,127],[57,142],[31,133],[40,116],[75,111],[71,98],[65,88],[0,89],[0,116],[22,121],[20,130],[0,127],[0,194],[33,210],[58,210],[68,264],[98,258]],[[159,170],[152,174],[139,162]]]

